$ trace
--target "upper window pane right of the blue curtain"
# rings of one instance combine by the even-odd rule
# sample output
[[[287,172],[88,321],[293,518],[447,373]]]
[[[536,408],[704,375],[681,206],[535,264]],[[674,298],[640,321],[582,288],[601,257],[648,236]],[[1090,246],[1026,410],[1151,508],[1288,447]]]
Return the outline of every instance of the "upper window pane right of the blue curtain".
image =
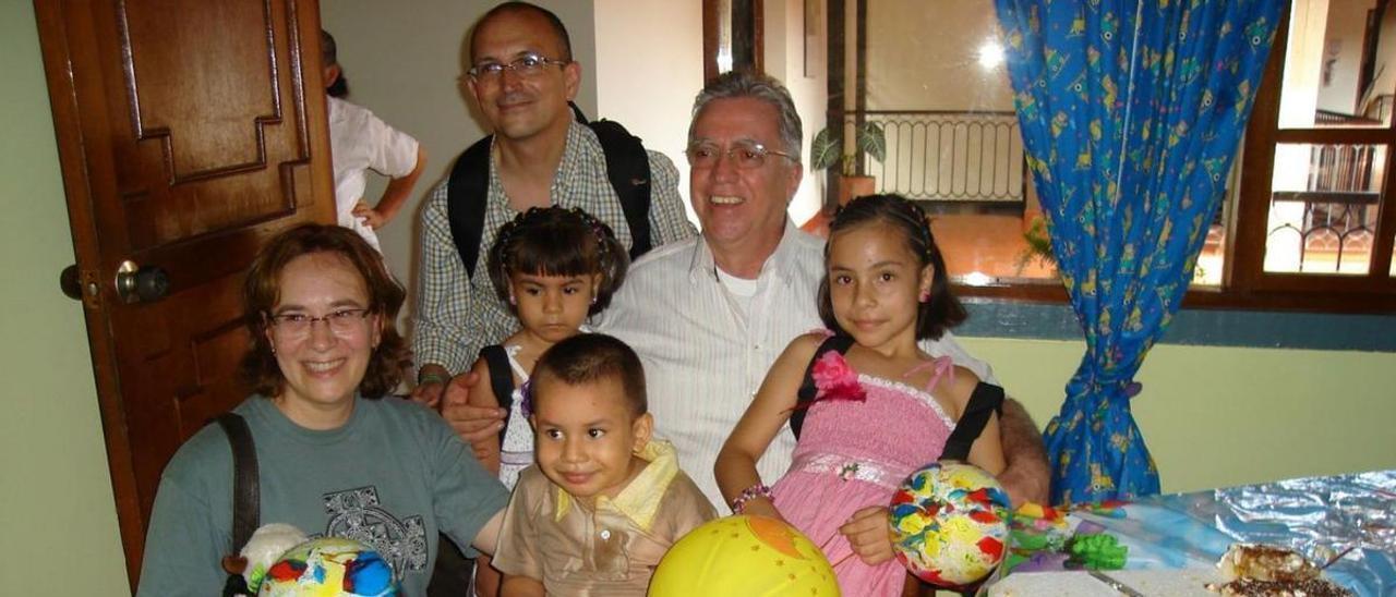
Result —
[[[1280,128],[1385,127],[1396,93],[1396,10],[1294,0]]]

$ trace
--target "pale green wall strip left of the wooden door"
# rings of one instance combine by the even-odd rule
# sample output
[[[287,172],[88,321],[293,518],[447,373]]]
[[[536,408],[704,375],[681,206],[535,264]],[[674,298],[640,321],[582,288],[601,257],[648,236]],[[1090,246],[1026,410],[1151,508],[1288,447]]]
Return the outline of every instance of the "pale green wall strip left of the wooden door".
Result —
[[[126,591],[34,6],[0,3],[0,579],[6,594]]]

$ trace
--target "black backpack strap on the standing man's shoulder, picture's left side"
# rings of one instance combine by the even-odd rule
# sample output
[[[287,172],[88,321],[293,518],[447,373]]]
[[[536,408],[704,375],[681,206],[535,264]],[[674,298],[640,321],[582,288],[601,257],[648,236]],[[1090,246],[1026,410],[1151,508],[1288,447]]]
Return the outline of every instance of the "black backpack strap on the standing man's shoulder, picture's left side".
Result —
[[[447,183],[445,212],[451,222],[451,240],[465,262],[465,276],[475,278],[475,262],[480,258],[480,239],[484,237],[484,208],[490,195],[490,142],[494,137],[476,141],[455,159]]]

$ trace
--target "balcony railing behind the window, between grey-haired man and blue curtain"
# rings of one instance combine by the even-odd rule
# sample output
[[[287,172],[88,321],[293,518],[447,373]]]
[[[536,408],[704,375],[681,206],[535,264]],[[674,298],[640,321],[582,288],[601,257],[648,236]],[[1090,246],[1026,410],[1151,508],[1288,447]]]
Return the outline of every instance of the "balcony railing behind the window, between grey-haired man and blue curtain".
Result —
[[[945,204],[1023,205],[1023,141],[1012,112],[867,110],[843,119],[877,123],[886,134],[882,163],[861,156],[861,173],[877,179],[878,192]]]

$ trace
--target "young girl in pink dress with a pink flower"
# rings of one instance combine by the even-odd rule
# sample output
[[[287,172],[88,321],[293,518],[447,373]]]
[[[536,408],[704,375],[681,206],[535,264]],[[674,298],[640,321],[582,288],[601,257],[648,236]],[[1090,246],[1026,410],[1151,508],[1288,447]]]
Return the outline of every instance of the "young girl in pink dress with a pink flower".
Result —
[[[850,202],[825,247],[819,315],[831,332],[794,339],[718,455],[718,485],[738,513],[782,517],[833,564],[846,596],[896,596],[886,506],[907,474],[941,458],[979,379],[919,339],[965,319],[919,206],[896,195]],[[812,388],[797,400],[801,385]],[[755,463],[786,421],[803,418],[794,462],[768,488]],[[796,421],[792,421],[794,424]],[[963,437],[963,434],[960,434]],[[1004,469],[990,416],[969,462]]]

